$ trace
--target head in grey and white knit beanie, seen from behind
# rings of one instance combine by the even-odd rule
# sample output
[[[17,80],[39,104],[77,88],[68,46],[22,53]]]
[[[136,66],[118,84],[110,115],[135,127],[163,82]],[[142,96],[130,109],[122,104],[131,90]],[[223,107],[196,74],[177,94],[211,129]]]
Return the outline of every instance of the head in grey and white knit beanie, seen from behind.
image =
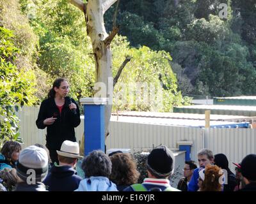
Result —
[[[17,164],[17,175],[26,182],[31,178],[36,182],[41,182],[45,179],[48,173],[48,156],[47,152],[35,145],[26,147],[20,152],[19,161]]]

